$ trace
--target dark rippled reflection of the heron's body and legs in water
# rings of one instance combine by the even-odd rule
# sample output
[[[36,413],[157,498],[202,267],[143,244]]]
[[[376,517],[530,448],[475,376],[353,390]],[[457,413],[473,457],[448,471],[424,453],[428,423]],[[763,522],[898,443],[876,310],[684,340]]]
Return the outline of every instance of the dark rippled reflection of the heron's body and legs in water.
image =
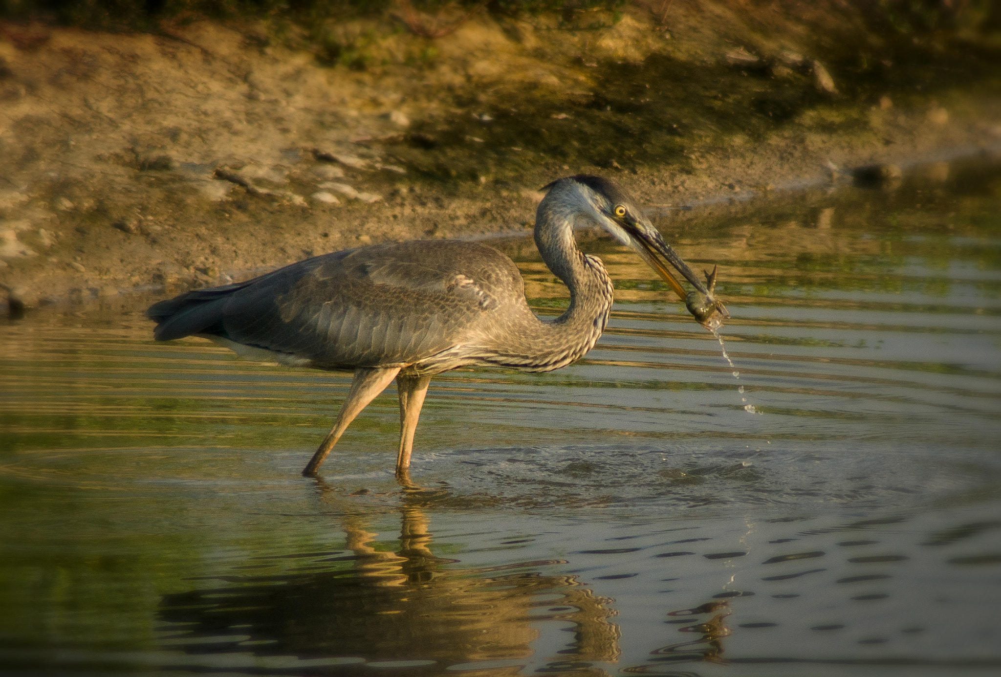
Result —
[[[540,573],[561,562],[463,569],[435,556],[419,495],[409,493],[400,508],[396,552],[375,547],[378,535],[367,530],[368,518],[348,516],[342,527],[351,554],[316,555],[310,564],[325,570],[220,576],[216,580],[230,585],[165,596],[161,618],[185,624],[175,626],[170,647],[192,654],[427,661],[407,671],[436,672],[525,659],[534,653],[540,621],[557,621],[555,630],[573,633],[558,652],[566,657],[563,665],[588,671],[589,662],[617,660],[619,626],[608,621],[616,612],[606,606],[612,600],[594,595],[576,576]],[[349,569],[334,568],[345,563]],[[356,667],[371,674],[360,660]],[[519,666],[510,669],[514,674]],[[303,666],[301,674],[314,670]],[[293,666],[281,672],[300,674]],[[352,672],[349,664],[337,670]]]

